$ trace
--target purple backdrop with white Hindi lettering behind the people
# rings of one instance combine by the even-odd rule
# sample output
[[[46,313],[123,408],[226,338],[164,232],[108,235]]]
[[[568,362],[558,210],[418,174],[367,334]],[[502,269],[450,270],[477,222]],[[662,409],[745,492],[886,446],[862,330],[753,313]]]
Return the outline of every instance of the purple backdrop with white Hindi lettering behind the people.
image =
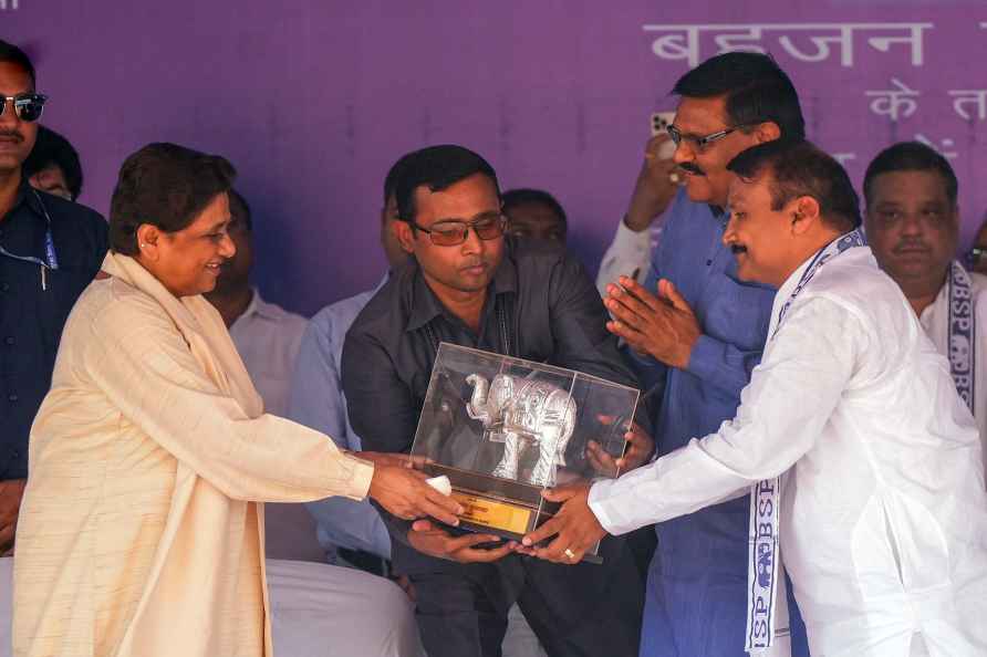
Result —
[[[984,2],[620,4],[0,0],[0,24],[35,58],[45,122],[82,154],[83,202],[106,212],[121,161],[148,142],[226,155],[254,208],[261,290],[304,313],[380,279],[383,176],[440,142],[484,154],[505,187],[555,194],[594,270],[650,113],[724,48],[778,59],[810,137],[858,182],[894,140],[948,153],[969,241],[987,208]]]

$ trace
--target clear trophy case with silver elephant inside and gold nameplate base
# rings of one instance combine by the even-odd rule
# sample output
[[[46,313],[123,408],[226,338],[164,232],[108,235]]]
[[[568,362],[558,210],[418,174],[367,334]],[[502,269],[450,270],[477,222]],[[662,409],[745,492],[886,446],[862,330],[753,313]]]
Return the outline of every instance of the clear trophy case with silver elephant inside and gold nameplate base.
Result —
[[[617,474],[610,470],[637,395],[573,369],[441,343],[412,455],[424,457],[429,477],[448,478],[465,509],[457,529],[520,541],[558,512],[547,488]],[[610,459],[595,447],[591,455],[591,440]]]

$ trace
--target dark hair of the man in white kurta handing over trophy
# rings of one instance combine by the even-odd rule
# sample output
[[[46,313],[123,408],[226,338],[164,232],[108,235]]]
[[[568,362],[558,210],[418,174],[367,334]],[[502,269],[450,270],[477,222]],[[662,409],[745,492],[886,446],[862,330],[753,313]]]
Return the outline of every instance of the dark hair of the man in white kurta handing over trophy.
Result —
[[[730,160],[727,169],[745,179],[771,173],[771,209],[808,196],[819,204],[822,220],[838,230],[860,227],[860,197],[846,169],[803,139],[776,139],[752,146]]]

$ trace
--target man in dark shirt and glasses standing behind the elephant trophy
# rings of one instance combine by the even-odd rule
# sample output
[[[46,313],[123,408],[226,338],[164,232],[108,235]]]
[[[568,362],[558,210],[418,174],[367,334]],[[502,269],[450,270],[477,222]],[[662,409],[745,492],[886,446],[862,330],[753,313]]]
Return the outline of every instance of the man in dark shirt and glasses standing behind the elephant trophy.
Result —
[[[397,238],[414,260],[392,272],[343,347],[343,390],[364,449],[411,449],[439,342],[636,387],[579,261],[551,242],[505,236],[497,175],[484,158],[459,146],[415,152],[395,197]],[[635,437],[624,469],[651,448]],[[602,565],[567,570],[492,535],[383,517],[429,657],[500,655],[515,603],[553,657],[637,654],[643,583],[622,542],[604,542]]]

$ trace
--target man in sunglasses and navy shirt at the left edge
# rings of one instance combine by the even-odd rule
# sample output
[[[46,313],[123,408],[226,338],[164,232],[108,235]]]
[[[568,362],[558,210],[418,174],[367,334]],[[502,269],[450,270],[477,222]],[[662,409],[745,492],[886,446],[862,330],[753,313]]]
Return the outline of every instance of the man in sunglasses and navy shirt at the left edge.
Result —
[[[23,175],[46,101],[34,85],[28,55],[0,40],[0,555],[13,549],[28,435],[62,327],[107,248],[100,215],[34,190]]]

